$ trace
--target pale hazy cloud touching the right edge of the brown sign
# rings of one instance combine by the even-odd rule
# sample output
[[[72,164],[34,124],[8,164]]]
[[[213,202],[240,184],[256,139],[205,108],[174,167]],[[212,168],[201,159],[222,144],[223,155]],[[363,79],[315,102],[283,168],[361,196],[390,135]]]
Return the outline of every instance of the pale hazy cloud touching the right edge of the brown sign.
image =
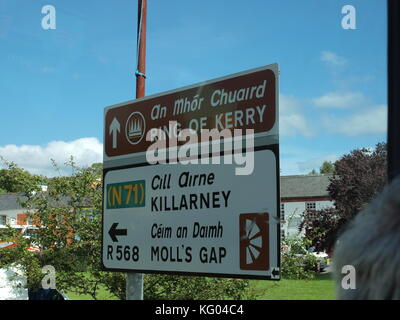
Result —
[[[279,127],[280,134],[286,136],[301,134],[311,137],[313,135],[311,126],[302,113],[301,102],[284,94],[279,96]]]

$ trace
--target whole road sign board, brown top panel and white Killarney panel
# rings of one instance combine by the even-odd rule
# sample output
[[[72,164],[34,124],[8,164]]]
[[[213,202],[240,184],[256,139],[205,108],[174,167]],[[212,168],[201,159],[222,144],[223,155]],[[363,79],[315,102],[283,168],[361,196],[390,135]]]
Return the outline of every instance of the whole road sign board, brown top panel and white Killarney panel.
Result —
[[[105,109],[104,269],[280,279],[278,73],[273,64]],[[174,140],[171,122],[199,140]],[[165,137],[152,141],[154,128]],[[203,141],[206,130],[242,134]],[[165,158],[150,165],[157,143]]]

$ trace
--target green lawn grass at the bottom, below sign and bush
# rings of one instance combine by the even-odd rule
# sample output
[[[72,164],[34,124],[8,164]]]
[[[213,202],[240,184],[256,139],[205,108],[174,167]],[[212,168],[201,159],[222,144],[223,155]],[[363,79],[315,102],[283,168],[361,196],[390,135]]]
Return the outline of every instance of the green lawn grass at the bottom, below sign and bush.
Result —
[[[314,280],[280,281],[252,280],[250,282],[260,300],[334,300],[335,284],[330,274],[320,274]],[[78,295],[67,292],[71,300],[92,300],[89,295]],[[99,300],[116,300],[105,289],[101,288]]]

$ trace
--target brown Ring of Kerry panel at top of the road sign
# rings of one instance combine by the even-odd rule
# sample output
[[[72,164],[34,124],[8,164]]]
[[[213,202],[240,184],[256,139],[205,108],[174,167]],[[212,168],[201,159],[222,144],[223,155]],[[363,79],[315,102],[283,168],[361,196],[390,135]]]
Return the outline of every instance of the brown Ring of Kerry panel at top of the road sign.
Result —
[[[147,132],[168,131],[170,121],[177,122],[178,130],[254,129],[255,134],[268,134],[277,119],[277,69],[274,64],[107,108],[106,156],[145,152],[153,143],[146,140]]]

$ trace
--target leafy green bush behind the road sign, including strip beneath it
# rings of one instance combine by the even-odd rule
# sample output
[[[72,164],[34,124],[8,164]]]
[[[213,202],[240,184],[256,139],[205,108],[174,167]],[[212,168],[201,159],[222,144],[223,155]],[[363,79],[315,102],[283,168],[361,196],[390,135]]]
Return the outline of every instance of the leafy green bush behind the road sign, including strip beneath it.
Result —
[[[53,162],[55,169],[57,165]],[[28,278],[28,287],[39,288],[41,268],[56,270],[57,289],[88,294],[97,299],[105,287],[112,295],[125,299],[126,274],[101,269],[101,164],[89,168],[67,165],[71,176],[49,179],[48,192],[37,192],[22,201],[32,222],[38,225],[31,238],[8,228],[1,240],[16,244],[0,249],[0,267],[18,263]],[[16,169],[14,169],[16,170]],[[39,246],[39,253],[27,250]],[[242,299],[253,293],[248,280],[172,275],[145,275],[146,299]]]

